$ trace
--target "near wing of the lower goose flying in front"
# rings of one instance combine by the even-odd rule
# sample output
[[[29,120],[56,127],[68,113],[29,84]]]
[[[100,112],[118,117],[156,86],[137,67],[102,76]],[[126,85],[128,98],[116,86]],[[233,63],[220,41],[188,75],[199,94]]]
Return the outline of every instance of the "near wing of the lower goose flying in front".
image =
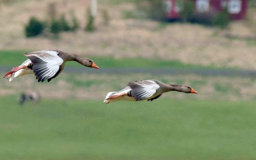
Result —
[[[152,80],[136,81],[128,83],[127,85],[131,87],[132,96],[134,96],[136,100],[149,98],[160,88],[160,86]]]

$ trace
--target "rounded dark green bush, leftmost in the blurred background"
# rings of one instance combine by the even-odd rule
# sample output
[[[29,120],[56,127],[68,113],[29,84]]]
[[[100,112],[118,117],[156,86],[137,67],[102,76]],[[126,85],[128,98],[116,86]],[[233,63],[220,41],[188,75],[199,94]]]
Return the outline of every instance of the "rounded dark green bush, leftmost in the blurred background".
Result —
[[[38,20],[35,17],[31,17],[28,24],[25,25],[25,36],[26,37],[35,37],[43,32],[44,29],[43,22]]]

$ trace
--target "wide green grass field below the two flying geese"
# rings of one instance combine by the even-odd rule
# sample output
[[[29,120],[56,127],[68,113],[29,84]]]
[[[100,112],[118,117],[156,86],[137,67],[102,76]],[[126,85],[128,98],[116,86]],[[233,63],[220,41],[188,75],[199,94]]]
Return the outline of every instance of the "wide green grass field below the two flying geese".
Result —
[[[0,102],[1,160],[256,159],[255,102]]]

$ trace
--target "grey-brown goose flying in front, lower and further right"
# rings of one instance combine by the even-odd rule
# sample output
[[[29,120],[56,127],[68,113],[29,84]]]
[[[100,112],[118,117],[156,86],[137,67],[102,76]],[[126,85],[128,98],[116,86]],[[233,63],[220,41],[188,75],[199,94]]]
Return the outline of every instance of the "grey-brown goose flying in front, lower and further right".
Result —
[[[179,91],[183,93],[196,93],[189,85],[164,84],[158,80],[142,80],[128,83],[127,87],[118,92],[109,92],[103,100],[106,104],[118,100],[154,100],[163,93],[169,91]]]

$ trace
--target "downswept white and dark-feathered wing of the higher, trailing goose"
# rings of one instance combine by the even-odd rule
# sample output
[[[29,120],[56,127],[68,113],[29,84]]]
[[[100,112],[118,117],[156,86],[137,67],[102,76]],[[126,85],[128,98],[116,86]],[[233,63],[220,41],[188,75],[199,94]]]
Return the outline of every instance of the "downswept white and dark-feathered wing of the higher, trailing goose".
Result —
[[[56,51],[48,50],[24,54],[33,63],[33,71],[38,82],[52,78],[59,71],[64,61],[58,54]]]

